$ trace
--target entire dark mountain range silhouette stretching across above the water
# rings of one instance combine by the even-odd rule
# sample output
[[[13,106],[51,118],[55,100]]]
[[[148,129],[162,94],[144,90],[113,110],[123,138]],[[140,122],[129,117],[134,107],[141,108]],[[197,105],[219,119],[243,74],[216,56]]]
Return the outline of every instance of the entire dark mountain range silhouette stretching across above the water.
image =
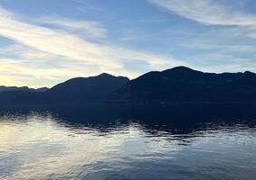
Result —
[[[72,78],[51,89],[0,91],[0,105],[72,103],[256,103],[256,74],[204,73],[188,67],[128,77]]]

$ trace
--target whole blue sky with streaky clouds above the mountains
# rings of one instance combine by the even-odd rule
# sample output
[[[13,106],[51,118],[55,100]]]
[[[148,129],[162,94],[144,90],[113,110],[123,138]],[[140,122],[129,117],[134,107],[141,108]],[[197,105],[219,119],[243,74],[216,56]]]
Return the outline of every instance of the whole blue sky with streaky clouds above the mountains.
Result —
[[[256,72],[255,0],[0,0],[0,85]]]

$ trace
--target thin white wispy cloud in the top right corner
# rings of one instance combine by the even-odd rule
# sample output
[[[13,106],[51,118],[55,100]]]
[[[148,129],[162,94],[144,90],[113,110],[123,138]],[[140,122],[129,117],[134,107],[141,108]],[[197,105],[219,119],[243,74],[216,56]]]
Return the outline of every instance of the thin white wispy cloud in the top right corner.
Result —
[[[256,16],[237,12],[211,0],[149,0],[174,14],[206,25],[255,26]]]

